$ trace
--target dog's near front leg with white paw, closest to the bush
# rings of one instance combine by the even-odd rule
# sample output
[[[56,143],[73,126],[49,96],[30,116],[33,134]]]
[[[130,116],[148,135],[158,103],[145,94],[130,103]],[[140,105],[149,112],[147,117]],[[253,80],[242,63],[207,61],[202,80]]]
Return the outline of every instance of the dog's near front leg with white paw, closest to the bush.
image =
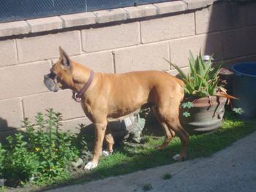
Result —
[[[105,123],[94,123],[95,126],[95,143],[94,143],[94,156],[91,161],[84,167],[85,170],[91,170],[98,166],[99,157],[102,155],[103,139],[105,137],[105,131],[107,127]]]

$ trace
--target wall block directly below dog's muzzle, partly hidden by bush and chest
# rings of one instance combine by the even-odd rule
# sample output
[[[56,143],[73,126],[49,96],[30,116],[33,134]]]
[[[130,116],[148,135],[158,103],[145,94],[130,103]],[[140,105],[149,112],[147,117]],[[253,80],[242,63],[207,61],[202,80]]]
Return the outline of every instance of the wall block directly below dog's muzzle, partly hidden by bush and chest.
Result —
[[[45,110],[50,108],[53,108],[55,112],[61,112],[64,120],[85,116],[80,104],[72,99],[72,92],[70,90],[26,96],[23,98],[23,103],[24,115],[31,120],[34,120],[37,112],[45,113]]]

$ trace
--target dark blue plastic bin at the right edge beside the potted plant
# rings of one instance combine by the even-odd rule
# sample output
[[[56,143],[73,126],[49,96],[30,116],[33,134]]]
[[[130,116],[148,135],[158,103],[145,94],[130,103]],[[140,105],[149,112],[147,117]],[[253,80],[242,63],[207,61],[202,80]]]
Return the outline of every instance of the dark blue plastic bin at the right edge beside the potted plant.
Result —
[[[256,62],[234,64],[232,66],[233,107],[241,107],[244,114],[240,118],[256,118]]]

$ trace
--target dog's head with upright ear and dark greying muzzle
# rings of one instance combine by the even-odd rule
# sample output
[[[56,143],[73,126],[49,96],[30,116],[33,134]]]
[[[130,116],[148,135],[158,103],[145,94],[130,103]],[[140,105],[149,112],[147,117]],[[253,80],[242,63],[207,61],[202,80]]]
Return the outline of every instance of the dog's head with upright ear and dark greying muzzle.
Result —
[[[59,47],[59,61],[57,61],[50,69],[49,74],[45,74],[45,86],[53,92],[66,88],[73,88],[74,82],[72,77],[72,61],[67,53]]]

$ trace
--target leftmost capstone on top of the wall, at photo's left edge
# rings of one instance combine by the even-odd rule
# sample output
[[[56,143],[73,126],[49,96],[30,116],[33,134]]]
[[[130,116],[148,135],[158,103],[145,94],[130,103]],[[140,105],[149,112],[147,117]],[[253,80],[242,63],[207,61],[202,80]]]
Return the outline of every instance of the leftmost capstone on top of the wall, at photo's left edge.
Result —
[[[10,23],[0,24],[0,37],[18,35],[18,34],[29,34],[30,27],[26,21],[20,20]]]

